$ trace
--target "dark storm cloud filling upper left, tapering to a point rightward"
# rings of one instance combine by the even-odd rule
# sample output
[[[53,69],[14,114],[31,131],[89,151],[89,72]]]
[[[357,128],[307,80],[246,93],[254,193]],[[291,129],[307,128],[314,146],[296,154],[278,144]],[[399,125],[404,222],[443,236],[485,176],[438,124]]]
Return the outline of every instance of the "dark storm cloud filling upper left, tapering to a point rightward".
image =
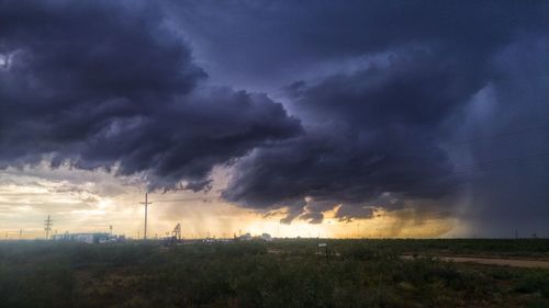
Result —
[[[199,190],[301,129],[266,95],[203,85],[153,3],[0,1],[0,167],[46,157]]]

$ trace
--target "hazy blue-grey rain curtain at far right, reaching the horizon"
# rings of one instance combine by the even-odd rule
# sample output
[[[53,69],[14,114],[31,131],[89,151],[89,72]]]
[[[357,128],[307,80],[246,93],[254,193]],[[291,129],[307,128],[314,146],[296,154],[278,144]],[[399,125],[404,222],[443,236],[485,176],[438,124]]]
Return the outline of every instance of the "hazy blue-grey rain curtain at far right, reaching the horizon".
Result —
[[[460,132],[500,136],[468,148],[473,163],[498,163],[475,169],[467,218],[484,236],[514,237],[518,230],[520,237],[547,237],[549,37],[522,37],[496,55],[494,66],[500,79],[478,98],[481,104],[468,111]],[[517,128],[525,133],[509,134]]]

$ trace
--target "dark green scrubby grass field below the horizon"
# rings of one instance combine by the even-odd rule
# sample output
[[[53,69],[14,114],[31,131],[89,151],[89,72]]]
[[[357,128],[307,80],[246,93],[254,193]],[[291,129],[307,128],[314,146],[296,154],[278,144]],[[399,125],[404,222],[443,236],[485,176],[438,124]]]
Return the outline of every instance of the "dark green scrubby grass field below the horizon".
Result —
[[[549,258],[549,240],[0,243],[0,307],[549,307],[549,270],[428,255]],[[402,254],[427,258],[403,260]]]

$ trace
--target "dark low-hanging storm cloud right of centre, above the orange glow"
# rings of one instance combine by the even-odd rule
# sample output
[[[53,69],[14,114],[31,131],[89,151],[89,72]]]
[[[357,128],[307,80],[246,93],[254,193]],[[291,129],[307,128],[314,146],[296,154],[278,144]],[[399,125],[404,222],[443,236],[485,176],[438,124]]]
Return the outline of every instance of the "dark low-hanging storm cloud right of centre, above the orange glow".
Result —
[[[442,122],[484,84],[457,67],[419,53],[317,84],[292,84],[294,110],[315,122],[305,136],[244,159],[224,196],[265,207],[310,196],[326,210],[339,203],[361,207],[386,192],[427,199],[452,193],[458,178],[438,146]]]

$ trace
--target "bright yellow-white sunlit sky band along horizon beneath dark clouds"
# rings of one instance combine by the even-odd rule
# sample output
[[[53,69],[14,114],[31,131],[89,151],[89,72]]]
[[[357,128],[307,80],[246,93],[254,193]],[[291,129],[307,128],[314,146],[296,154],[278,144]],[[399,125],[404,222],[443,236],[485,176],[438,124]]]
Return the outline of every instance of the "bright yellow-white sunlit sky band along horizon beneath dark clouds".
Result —
[[[45,180],[41,174],[55,174]],[[76,176],[78,183],[64,180]],[[384,238],[439,237],[453,227],[452,219],[424,217],[412,209],[374,212],[371,219],[341,220],[335,217],[339,206],[324,212],[322,224],[295,219],[282,224],[288,209],[268,214],[222,202],[219,190],[226,184],[227,169],[216,169],[210,193],[187,191],[149,194],[149,237],[164,237],[178,223],[184,238],[232,238],[249,232],[268,232],[273,237]],[[68,176],[71,178],[71,176]],[[131,182],[131,181],[130,181]],[[132,182],[134,184],[134,182]],[[109,231],[127,237],[143,237],[145,189],[128,185],[104,171],[75,171],[68,168],[51,170],[45,164],[33,170],[9,169],[0,173],[0,237],[19,239],[42,238],[47,215],[54,220],[53,233]]]

